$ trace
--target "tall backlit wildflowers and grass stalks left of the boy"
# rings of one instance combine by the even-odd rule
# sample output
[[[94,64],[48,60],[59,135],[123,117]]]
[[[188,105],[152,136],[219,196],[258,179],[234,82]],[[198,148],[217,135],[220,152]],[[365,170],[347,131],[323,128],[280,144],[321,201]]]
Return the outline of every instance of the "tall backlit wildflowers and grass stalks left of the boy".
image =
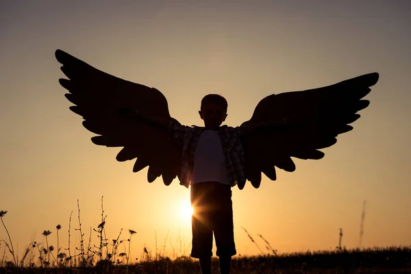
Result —
[[[14,246],[12,245],[12,238],[8,231],[8,228],[5,225],[3,217],[7,213],[7,211],[2,210],[0,212],[0,219],[3,223],[3,227],[8,235],[8,241],[1,239],[0,240],[0,249],[1,244],[3,244],[3,258],[0,259],[0,270],[3,266],[13,266],[16,269],[23,269],[23,268],[40,268],[40,269],[58,269],[58,268],[77,268],[77,267],[95,267],[97,265],[105,265],[107,271],[113,271],[116,266],[121,264],[129,264],[133,262],[130,260],[131,254],[131,244],[132,244],[132,235],[136,234],[136,232],[132,229],[129,229],[129,238],[121,239],[121,232],[123,228],[120,230],[119,236],[116,239],[112,240],[112,245],[109,247],[109,240],[105,235],[105,218],[107,216],[104,215],[103,209],[103,197],[101,197],[101,223],[97,226],[97,228],[90,227],[90,234],[88,238],[88,245],[85,242],[84,228],[82,227],[82,219],[80,215],[80,203],[77,200],[77,219],[78,219],[78,227],[75,227],[75,231],[79,232],[79,242],[75,245],[75,253],[73,253],[73,249],[71,248],[73,242],[71,240],[71,232],[72,232],[72,215],[71,212],[69,217],[69,242],[68,246],[64,251],[69,253],[69,256],[65,252],[61,252],[63,247],[60,246],[60,238],[59,233],[62,225],[56,225],[56,240],[57,240],[57,250],[55,250],[54,246],[50,244],[50,237],[52,232],[50,230],[45,230],[42,232],[42,236],[45,237],[45,244],[41,244],[38,242],[33,242],[27,245],[25,249],[25,253],[21,260],[18,260],[16,253],[14,251]],[[97,234],[99,237],[99,244],[92,245],[91,238],[92,234]],[[119,245],[121,245],[124,241],[128,242],[128,252],[127,253],[120,253],[118,254]],[[7,254],[10,253],[12,256],[12,261],[7,260]],[[38,260],[36,262],[32,262],[31,258],[28,258],[29,253],[36,253],[36,257]],[[126,258],[126,260],[123,260]],[[0,271],[1,273],[1,271]]]

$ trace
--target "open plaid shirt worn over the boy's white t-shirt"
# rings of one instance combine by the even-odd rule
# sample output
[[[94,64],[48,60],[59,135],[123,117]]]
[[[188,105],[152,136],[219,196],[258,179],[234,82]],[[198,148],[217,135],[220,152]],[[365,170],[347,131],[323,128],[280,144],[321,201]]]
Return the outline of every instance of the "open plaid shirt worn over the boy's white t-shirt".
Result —
[[[181,125],[176,122],[171,122],[169,131],[175,142],[182,145],[182,171],[179,176],[180,184],[183,186],[190,185],[192,167],[194,166],[194,153],[197,147],[197,142],[201,134],[204,132],[204,127]],[[244,149],[240,141],[240,136],[243,134],[242,127],[227,127],[223,125],[219,128],[219,135],[223,145],[223,153],[225,157],[225,166],[229,183],[235,186],[237,183],[245,183],[245,157]]]

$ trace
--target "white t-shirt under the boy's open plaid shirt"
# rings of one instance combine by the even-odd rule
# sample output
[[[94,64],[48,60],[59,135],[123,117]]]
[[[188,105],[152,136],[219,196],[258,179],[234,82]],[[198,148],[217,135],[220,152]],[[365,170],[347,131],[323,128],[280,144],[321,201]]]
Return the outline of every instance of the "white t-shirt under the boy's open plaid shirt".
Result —
[[[194,152],[191,184],[220,182],[229,185],[223,145],[218,131],[205,130]]]

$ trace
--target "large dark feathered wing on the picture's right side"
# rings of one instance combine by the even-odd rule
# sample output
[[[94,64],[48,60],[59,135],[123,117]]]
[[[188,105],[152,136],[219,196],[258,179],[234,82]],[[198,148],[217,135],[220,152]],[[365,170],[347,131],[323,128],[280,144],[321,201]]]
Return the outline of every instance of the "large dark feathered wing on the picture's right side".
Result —
[[[361,100],[378,81],[378,73],[347,79],[332,86],[269,95],[258,103],[250,121],[243,123],[271,123],[292,118],[290,125],[271,127],[245,136],[246,176],[258,188],[261,173],[275,180],[275,166],[284,171],[295,171],[291,157],[299,159],[323,158],[319,151],[337,142],[338,134],[349,132],[369,101]],[[240,188],[244,186],[239,186]]]

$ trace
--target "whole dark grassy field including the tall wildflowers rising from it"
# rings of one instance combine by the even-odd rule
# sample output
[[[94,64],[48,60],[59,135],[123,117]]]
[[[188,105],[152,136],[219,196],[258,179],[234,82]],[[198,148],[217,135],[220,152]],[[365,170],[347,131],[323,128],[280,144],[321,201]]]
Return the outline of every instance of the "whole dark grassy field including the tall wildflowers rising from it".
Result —
[[[80,209],[77,201],[78,216]],[[109,240],[105,236],[105,216],[103,211],[103,198],[101,199],[101,223],[97,228],[90,230],[90,236],[82,232],[81,222],[75,227],[72,216],[69,220],[69,247],[59,245],[58,236],[60,225],[55,227],[57,245],[54,247],[49,242],[49,230],[42,232],[43,243],[31,242],[27,245],[23,256],[19,257],[14,252],[12,238],[3,220],[7,211],[0,211],[1,223],[8,238],[0,239],[0,274],[3,273],[201,273],[197,260],[192,260],[186,254],[180,253],[172,259],[162,254],[151,254],[144,249],[145,256],[138,261],[129,260],[132,246],[132,236],[136,234],[129,229],[126,239],[121,236],[121,229],[117,238]],[[245,228],[242,228],[248,234]],[[78,231],[81,235],[80,242],[71,242],[71,230]],[[97,234],[99,243],[91,245],[92,234]],[[334,251],[314,251],[306,253],[279,254],[270,243],[260,234],[266,243],[269,252],[262,256],[242,257],[236,256],[232,260],[232,273],[411,273],[411,247],[387,247],[373,249],[345,249],[339,246]],[[250,234],[250,240],[255,242]],[[88,241],[87,241],[88,240]],[[118,247],[127,243],[128,251],[120,253]],[[260,249],[260,247],[259,247]],[[262,251],[262,249],[260,249]],[[262,252],[263,253],[263,252]],[[137,263],[134,263],[137,262]],[[219,262],[213,260],[213,273],[219,273]]]

